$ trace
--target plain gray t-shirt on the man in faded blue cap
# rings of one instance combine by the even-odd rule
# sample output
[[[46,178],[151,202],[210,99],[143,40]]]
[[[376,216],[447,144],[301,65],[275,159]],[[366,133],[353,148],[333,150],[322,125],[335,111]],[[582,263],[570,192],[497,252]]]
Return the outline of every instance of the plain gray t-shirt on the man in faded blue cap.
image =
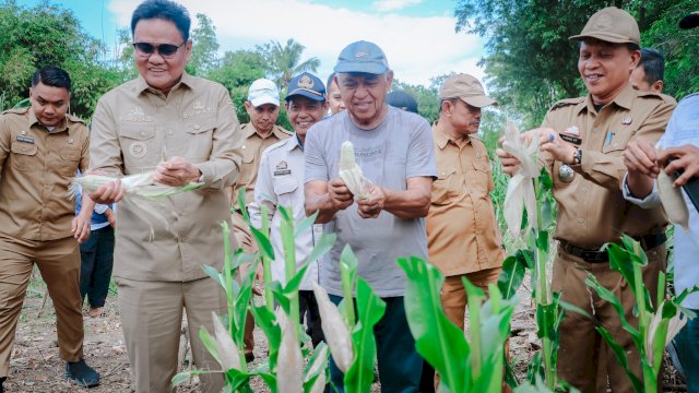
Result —
[[[436,177],[431,129],[422,117],[389,107],[383,121],[372,130],[362,130],[347,111],[316,123],[306,138],[306,182],[330,181],[339,176],[337,164],[344,141],[354,144],[357,164],[375,184],[405,190],[413,177]],[[399,257],[427,259],[425,218],[403,219],[389,212],[378,218],[362,218],[353,203],[323,226],[337,234],[337,242],[320,265],[320,284],[342,296],[340,254],[346,243],[359,260],[357,273],[380,297],[403,296],[405,274],[395,263]]]

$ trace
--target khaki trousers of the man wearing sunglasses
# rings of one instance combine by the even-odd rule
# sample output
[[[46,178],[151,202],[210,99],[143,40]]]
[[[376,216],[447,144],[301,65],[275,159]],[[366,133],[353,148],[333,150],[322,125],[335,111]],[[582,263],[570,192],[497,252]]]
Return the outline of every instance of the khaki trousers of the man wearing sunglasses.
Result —
[[[138,282],[118,278],[119,308],[138,393],[169,393],[177,372],[177,353],[187,310],[191,353],[197,369],[222,370],[199,338],[200,326],[213,334],[212,311],[227,312],[223,290],[213,279]],[[221,392],[223,374],[200,376],[203,392]]]

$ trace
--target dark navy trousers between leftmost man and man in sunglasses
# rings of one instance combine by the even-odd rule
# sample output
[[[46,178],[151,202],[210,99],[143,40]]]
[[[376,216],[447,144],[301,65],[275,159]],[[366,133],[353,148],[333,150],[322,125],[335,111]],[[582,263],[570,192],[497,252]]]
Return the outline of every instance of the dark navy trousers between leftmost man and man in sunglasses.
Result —
[[[80,296],[84,301],[86,295],[92,308],[104,307],[114,266],[111,225],[90,233],[90,238],[80,245]]]

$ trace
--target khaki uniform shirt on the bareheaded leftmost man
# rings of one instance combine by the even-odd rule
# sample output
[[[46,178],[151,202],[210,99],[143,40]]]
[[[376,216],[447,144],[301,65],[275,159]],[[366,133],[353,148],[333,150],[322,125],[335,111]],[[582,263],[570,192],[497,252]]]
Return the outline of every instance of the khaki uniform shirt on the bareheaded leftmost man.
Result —
[[[72,236],[75,201],[69,186],[87,169],[85,123],[67,115],[48,131],[31,108],[0,116],[0,231],[27,240]]]

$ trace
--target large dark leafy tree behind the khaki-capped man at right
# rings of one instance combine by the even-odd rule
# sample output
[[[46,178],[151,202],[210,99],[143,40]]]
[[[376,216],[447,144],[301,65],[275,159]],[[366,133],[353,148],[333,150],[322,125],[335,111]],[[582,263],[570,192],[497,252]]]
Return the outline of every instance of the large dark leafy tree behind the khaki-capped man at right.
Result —
[[[454,14],[457,31],[487,38],[481,66],[495,98],[525,127],[534,127],[556,100],[584,94],[577,71],[578,43],[568,37],[579,34],[594,12],[608,5],[625,9],[643,33],[676,2],[459,0]]]

